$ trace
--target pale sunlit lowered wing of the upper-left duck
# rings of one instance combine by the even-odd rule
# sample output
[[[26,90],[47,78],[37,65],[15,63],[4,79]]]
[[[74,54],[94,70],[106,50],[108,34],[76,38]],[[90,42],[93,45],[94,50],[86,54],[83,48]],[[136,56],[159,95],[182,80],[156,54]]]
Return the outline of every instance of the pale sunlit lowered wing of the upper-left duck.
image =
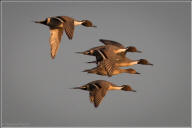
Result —
[[[59,49],[59,45],[61,42],[61,37],[63,35],[63,29],[50,28],[50,38],[49,43],[51,46],[51,57],[55,58],[57,51]]]

